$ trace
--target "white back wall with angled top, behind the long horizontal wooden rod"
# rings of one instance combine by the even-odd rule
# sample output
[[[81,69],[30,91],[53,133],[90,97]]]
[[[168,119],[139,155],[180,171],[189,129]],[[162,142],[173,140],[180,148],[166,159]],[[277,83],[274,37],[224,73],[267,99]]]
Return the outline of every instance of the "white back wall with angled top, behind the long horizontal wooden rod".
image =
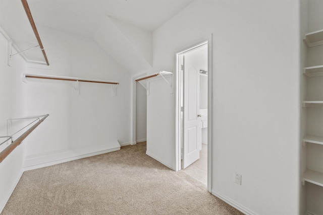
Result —
[[[50,66],[28,67],[28,73],[119,81],[120,85],[113,97],[112,85],[80,83],[76,95],[73,82],[28,79],[27,114],[49,113],[49,117],[41,134],[30,134],[26,167],[57,159],[48,155],[64,159],[83,148],[95,151],[117,140],[130,143],[129,74],[92,39],[46,27],[38,31]]]

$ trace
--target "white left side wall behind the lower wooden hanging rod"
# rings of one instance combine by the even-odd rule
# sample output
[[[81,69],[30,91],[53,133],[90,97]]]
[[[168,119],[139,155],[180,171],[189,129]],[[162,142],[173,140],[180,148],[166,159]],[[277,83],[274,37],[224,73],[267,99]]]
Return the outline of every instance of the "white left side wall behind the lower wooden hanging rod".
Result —
[[[25,64],[24,60],[16,55],[13,57],[12,66],[7,65],[7,39],[0,33],[0,136],[6,135],[8,118],[25,116],[25,86],[20,77]],[[21,122],[15,123],[14,128],[17,125],[21,128]],[[17,130],[13,129],[13,131]],[[0,142],[4,140],[1,138]],[[0,212],[23,173],[25,145],[24,141],[0,164]],[[7,146],[7,144],[2,145],[0,151]]]

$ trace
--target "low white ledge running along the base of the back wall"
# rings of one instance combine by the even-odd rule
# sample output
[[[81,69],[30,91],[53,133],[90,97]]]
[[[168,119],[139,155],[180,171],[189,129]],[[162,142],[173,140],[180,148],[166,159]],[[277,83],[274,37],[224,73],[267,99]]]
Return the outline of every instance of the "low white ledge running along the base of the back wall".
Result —
[[[56,153],[33,155],[25,159],[24,171],[61,164],[68,161],[74,161],[77,159],[101,155],[118,150],[120,150],[120,144],[118,141],[116,141],[112,144],[105,144],[95,147],[68,149]]]

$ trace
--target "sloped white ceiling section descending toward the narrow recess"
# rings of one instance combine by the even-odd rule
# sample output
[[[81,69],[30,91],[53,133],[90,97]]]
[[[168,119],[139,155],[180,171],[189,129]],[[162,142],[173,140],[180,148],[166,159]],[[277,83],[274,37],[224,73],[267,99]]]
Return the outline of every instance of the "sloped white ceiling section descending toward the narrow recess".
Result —
[[[94,41],[132,75],[152,67],[151,32],[105,16]]]

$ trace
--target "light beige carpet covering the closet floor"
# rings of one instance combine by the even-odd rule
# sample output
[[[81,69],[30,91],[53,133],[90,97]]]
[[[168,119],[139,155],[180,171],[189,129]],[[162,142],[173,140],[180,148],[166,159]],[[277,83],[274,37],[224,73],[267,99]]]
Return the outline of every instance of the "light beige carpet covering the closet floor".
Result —
[[[145,151],[143,142],[27,171],[2,214],[242,214]]]

